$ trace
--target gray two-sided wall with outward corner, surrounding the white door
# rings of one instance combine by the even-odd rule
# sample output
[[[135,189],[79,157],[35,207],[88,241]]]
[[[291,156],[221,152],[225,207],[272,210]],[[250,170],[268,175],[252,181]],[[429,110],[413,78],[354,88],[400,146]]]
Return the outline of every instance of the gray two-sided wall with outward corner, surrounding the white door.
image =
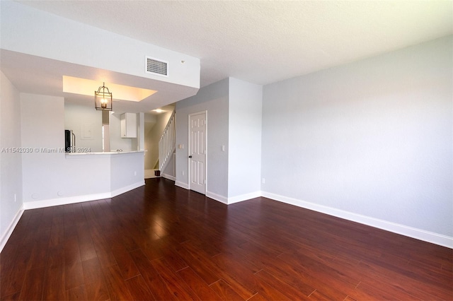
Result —
[[[226,78],[177,103],[176,146],[185,146],[176,149],[177,185],[188,187],[188,115],[206,110],[206,195],[224,203],[260,196],[262,98],[262,85]]]

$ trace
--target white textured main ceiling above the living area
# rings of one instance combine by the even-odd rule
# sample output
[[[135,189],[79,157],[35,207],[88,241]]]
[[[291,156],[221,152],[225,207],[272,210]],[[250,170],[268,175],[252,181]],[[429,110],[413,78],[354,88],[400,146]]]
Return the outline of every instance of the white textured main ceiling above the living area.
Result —
[[[19,1],[267,84],[453,33],[452,1]]]

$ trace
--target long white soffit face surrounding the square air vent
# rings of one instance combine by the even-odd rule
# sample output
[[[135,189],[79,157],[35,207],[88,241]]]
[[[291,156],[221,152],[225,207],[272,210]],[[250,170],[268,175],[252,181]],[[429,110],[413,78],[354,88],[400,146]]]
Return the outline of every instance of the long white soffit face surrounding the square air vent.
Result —
[[[2,49],[156,81],[200,87],[200,59],[14,1],[0,1],[0,5]],[[146,56],[168,61],[169,76],[145,73]],[[180,63],[182,60],[184,64]]]

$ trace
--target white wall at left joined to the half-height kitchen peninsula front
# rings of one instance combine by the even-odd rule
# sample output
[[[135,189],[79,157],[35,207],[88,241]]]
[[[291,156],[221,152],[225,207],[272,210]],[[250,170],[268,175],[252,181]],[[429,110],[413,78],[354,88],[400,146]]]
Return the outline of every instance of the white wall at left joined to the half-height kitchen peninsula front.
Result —
[[[105,199],[144,184],[143,153],[66,155],[64,99],[21,93],[23,206]],[[42,149],[56,150],[47,153]]]

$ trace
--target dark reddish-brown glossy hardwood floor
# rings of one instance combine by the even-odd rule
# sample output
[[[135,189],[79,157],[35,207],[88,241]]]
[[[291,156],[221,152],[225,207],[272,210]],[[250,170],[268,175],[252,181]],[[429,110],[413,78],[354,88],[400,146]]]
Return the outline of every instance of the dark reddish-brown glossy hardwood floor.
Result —
[[[1,300],[453,300],[452,249],[159,178],[25,211],[0,256]]]

